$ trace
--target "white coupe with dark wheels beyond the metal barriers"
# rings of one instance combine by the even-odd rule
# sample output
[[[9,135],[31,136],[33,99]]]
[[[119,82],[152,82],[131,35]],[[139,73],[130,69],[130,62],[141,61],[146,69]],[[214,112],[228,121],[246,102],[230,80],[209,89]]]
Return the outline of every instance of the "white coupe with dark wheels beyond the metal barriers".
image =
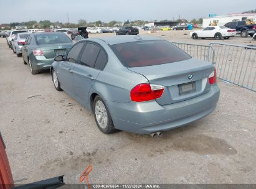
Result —
[[[225,26],[209,26],[203,30],[194,30],[190,32],[192,39],[198,38],[215,38],[215,39],[229,39],[229,37],[235,36],[237,31],[235,29],[229,29]]]

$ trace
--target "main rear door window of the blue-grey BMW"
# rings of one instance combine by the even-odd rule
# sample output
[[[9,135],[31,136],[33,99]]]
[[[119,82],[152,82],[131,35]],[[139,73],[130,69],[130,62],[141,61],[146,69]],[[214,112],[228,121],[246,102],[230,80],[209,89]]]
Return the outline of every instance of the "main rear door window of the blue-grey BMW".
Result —
[[[87,67],[94,67],[100,47],[94,44],[87,44],[82,52],[80,63]]]

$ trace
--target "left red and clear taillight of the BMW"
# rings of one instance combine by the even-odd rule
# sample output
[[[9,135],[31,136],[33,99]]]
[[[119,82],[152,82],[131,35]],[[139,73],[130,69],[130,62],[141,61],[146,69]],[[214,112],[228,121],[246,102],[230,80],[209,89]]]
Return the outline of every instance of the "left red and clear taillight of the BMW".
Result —
[[[135,102],[149,101],[162,96],[164,86],[154,84],[139,84],[131,90],[131,100]]]

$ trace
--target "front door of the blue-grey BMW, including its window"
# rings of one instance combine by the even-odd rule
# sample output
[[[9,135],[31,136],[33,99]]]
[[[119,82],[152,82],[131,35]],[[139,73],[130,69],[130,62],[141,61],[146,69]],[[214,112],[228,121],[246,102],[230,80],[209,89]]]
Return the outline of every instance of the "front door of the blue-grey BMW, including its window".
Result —
[[[59,78],[60,84],[63,90],[67,93],[73,93],[73,67],[78,63],[79,55],[83,49],[85,42],[78,42],[70,48],[65,61],[59,62],[57,66],[57,76]]]

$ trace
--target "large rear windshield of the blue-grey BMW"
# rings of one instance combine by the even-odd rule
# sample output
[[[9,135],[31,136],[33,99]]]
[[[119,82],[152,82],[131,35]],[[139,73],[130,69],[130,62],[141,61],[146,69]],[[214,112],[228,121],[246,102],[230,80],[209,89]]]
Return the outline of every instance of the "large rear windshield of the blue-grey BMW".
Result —
[[[147,40],[110,46],[125,67],[147,67],[191,58],[166,40]]]

